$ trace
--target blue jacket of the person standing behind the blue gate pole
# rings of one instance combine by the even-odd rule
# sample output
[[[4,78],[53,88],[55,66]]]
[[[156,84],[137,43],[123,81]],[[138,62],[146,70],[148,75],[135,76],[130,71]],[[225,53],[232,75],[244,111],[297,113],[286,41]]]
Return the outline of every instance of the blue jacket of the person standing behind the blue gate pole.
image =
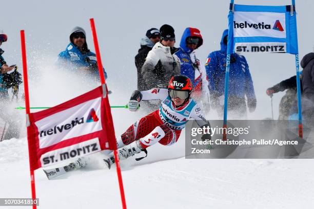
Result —
[[[206,73],[209,81],[209,92],[211,96],[221,96],[225,93],[225,74],[227,45],[224,38],[228,35],[228,30],[223,32],[221,37],[220,51],[211,52],[205,64]],[[229,96],[240,98],[256,99],[253,81],[244,56],[231,54],[229,70]]]

